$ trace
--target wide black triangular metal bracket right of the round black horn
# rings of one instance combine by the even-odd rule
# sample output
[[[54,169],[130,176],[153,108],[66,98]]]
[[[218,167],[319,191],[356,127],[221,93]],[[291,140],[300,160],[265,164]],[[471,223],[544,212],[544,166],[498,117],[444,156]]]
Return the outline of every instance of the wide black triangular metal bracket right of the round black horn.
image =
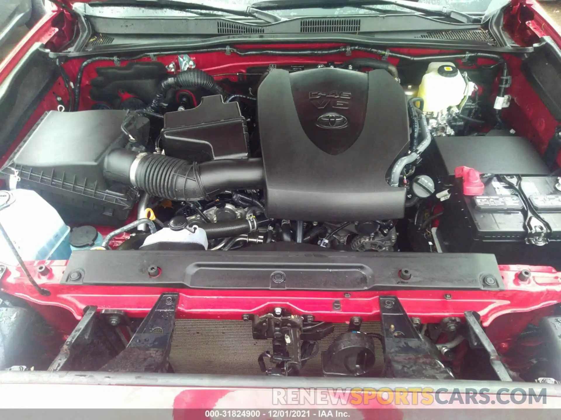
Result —
[[[389,377],[453,379],[436,346],[421,337],[396,296],[380,296],[380,314]]]

